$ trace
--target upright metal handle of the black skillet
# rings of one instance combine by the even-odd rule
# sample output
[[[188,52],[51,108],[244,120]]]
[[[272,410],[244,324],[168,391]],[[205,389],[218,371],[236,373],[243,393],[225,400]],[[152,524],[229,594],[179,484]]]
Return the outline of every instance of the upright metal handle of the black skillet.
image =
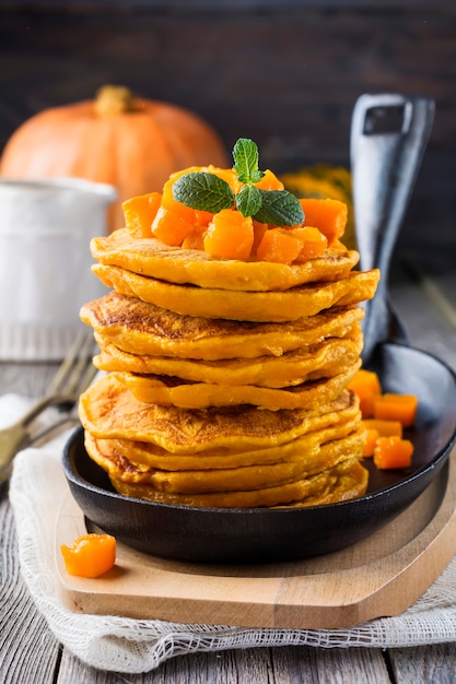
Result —
[[[355,103],[350,156],[360,267],[381,270],[364,304],[366,365],[379,342],[406,342],[388,302],[388,278],[397,240],[434,118],[434,101],[419,95],[362,95]]]

